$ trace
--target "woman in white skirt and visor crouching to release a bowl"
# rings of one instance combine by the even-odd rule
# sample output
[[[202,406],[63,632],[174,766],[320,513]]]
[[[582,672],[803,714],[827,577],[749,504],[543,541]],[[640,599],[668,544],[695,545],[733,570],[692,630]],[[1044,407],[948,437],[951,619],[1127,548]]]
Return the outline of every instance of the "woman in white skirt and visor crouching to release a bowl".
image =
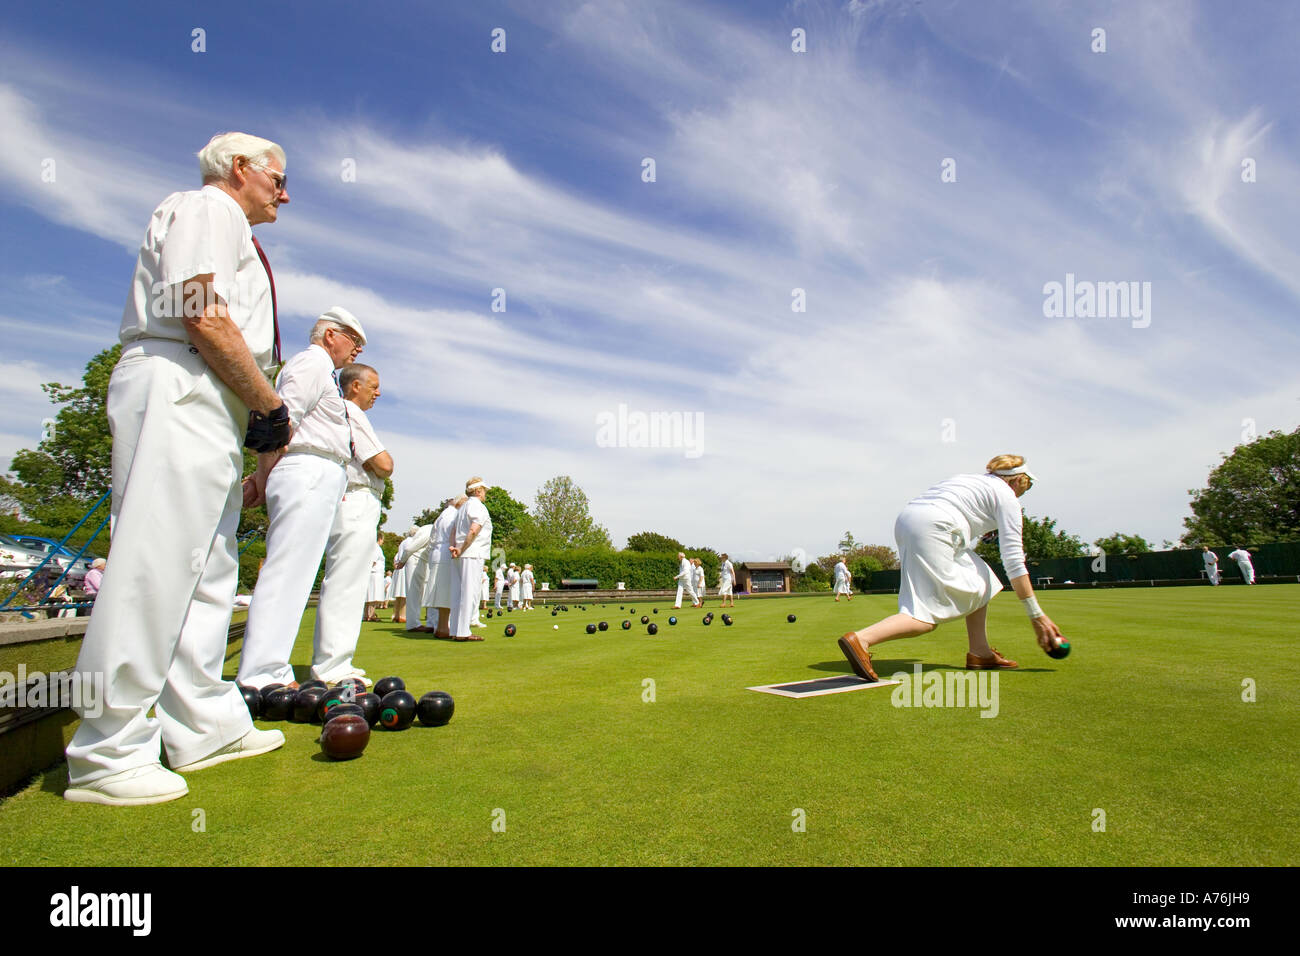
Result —
[[[993,529],[1006,576],[1030,615],[1044,650],[1061,641],[1061,631],[1039,607],[1024,566],[1020,535],[1024,516],[1018,498],[1034,484],[1020,455],[998,455],[985,475],[958,475],[941,481],[904,507],[894,523],[898,542],[898,613],[840,639],[840,650],[864,680],[879,680],[871,646],[897,637],[915,637],[945,620],[966,619],[967,670],[1015,667],[988,644],[988,602],[1002,589],[993,570],[975,554],[980,537]]]

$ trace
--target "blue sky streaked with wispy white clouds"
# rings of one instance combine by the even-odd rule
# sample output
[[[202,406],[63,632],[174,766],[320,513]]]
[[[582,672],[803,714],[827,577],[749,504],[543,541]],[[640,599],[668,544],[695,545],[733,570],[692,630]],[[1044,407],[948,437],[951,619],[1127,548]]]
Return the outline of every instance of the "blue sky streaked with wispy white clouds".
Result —
[[[289,155],[257,229],[286,341],[367,326],[389,529],[469,475],[572,475],[620,545],[822,554],[1011,451],[1031,514],[1158,544],[1297,425],[1294,5],[413,7],[6,5],[0,462],[226,129]],[[1149,324],[1045,316],[1067,273],[1149,282]],[[598,441],[620,406],[698,445]]]

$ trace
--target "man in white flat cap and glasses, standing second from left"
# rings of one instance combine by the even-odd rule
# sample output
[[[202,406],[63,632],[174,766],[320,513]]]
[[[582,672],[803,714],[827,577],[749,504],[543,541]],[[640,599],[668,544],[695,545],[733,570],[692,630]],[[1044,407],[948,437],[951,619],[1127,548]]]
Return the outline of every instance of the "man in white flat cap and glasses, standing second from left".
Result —
[[[289,656],[352,458],[347,403],[335,372],[364,345],[361,323],[335,306],[316,320],[311,345],[286,362],[276,380],[276,392],[289,406],[294,437],[283,451],[257,457],[257,490],[265,489],[269,519],[266,563],[248,605],[240,684],[298,685]]]

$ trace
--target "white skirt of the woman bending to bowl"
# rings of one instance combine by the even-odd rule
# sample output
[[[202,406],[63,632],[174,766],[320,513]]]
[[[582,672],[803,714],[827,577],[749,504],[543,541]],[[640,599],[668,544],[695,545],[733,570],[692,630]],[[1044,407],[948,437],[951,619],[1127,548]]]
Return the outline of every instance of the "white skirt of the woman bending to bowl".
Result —
[[[966,542],[966,529],[933,505],[907,505],[894,522],[898,611],[941,624],[965,618],[1002,589],[993,568]]]

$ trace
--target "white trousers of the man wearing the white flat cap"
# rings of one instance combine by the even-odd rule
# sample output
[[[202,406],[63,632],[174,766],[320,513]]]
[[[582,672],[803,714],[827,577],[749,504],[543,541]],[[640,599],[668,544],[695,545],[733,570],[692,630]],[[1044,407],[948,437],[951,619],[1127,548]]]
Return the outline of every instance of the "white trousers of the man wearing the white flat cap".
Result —
[[[294,679],[289,656],[298,640],[307,598],[325,551],[334,514],[343,498],[347,472],[338,462],[308,454],[280,459],[266,479],[266,563],[248,605],[239,683],[250,687],[287,684]],[[365,566],[374,551],[370,542]],[[361,575],[361,585],[369,574]],[[364,593],[364,592],[363,592]]]

